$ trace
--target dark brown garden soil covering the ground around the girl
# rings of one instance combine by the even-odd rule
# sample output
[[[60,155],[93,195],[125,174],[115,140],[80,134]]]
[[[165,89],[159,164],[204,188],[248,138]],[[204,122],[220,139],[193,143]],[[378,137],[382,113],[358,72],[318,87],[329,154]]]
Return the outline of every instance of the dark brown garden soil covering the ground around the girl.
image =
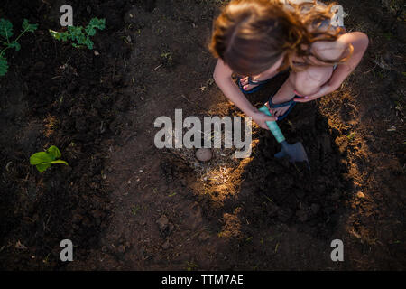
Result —
[[[240,114],[212,80],[219,3],[71,1],[75,25],[106,18],[89,51],[51,38],[62,1],[5,1],[0,18],[14,31],[23,18],[39,29],[7,51],[0,79],[1,269],[405,269],[404,7],[340,1],[347,30],[370,37],[364,60],[280,124],[311,171],[275,159],[280,145],[254,126],[251,157],[215,157],[205,165],[228,171],[211,182],[185,150],[154,146],[153,122],[175,108]],[[261,106],[285,78],[249,99]],[[69,166],[37,172],[30,155],[51,145]],[[65,238],[70,263],[60,261]],[[333,239],[344,262],[330,259]]]

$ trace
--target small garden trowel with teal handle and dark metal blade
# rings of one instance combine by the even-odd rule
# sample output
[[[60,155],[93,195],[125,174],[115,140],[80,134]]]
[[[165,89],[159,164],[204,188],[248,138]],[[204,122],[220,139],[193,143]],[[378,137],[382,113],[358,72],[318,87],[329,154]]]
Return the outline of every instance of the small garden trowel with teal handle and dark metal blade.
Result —
[[[266,106],[261,107],[259,111],[263,112],[267,116],[272,116],[271,112]],[[265,123],[271,130],[272,135],[275,136],[276,140],[279,144],[281,144],[282,147],[281,152],[275,154],[275,157],[278,159],[282,157],[289,157],[289,161],[291,163],[306,162],[310,169],[308,154],[306,154],[303,145],[300,142],[296,144],[288,144],[288,142],[286,142],[285,136],[281,133],[281,128],[279,128],[278,124],[275,121],[266,121]]]

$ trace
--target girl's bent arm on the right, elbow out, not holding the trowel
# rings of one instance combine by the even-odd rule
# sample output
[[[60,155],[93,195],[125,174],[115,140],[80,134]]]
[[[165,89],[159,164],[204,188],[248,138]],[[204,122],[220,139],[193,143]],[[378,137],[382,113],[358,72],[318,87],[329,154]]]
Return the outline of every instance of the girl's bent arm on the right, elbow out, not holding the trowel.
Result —
[[[295,98],[297,102],[307,102],[320,98],[338,89],[341,83],[348,77],[348,75],[355,70],[355,67],[359,64],[364,56],[364,52],[368,47],[368,36],[365,33],[355,32],[346,33],[341,35],[336,42],[320,42],[315,50],[318,55],[323,59],[334,60],[337,56],[342,55],[348,44],[352,44],[354,47],[353,54],[344,63],[337,65],[337,69],[334,70],[331,79],[325,84],[317,93],[307,96],[307,98]],[[339,55],[337,55],[339,53]]]

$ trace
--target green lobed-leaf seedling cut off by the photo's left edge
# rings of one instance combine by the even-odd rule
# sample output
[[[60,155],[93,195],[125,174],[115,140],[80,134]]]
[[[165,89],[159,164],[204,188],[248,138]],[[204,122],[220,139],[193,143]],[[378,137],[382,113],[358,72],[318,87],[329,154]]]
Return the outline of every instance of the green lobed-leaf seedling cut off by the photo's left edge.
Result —
[[[21,45],[18,42],[20,37],[26,32],[33,33],[37,28],[38,24],[30,24],[28,23],[27,19],[24,19],[22,33],[20,33],[20,35],[18,35],[18,37],[12,41],[10,38],[13,36],[13,24],[3,18],[0,19],[0,36],[2,36],[2,39],[0,39],[0,76],[4,76],[8,70],[8,62],[5,58],[5,51],[9,48],[14,48],[16,51],[19,51],[21,49]]]

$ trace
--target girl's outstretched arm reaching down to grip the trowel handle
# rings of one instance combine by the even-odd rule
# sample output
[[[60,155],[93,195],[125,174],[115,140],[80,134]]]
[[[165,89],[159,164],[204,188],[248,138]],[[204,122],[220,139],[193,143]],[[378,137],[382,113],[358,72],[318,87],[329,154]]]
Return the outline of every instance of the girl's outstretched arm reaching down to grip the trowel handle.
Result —
[[[276,117],[269,117],[255,108],[251,102],[245,98],[245,95],[236,86],[235,82],[231,78],[233,71],[226,66],[224,61],[218,59],[213,78],[216,81],[217,86],[223,91],[226,98],[230,99],[236,107],[240,108],[246,116],[252,117],[254,122],[259,126],[269,129],[266,126],[265,121],[274,121]]]

